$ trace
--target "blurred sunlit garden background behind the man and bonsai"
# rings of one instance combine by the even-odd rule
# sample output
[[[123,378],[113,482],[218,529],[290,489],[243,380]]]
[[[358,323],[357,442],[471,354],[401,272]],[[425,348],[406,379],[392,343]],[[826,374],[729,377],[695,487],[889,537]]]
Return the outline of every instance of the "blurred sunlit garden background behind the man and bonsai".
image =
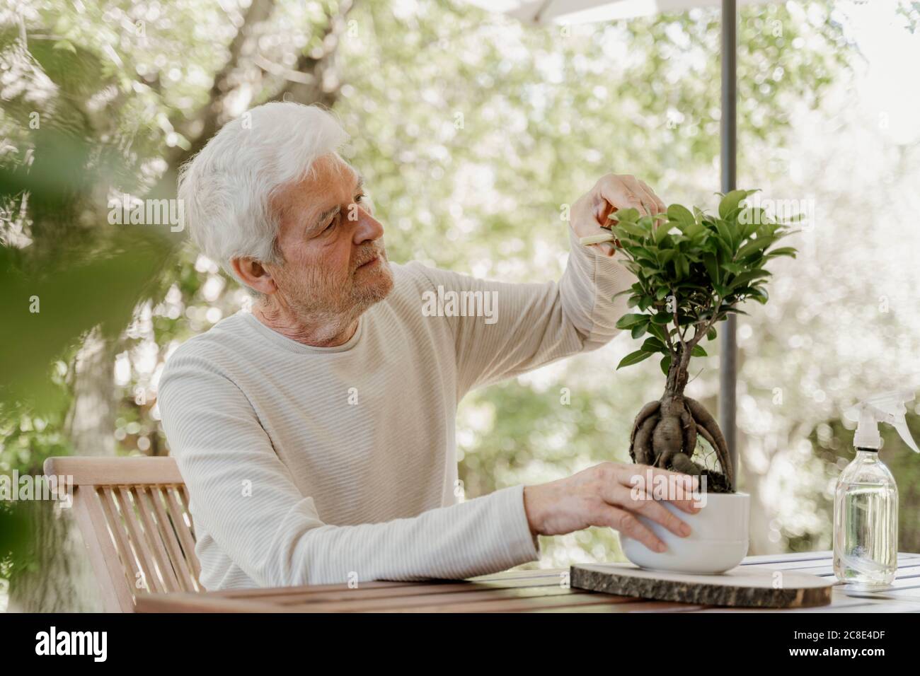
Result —
[[[5,3],[7,0],[4,0]],[[351,133],[389,257],[557,279],[566,206],[604,173],[667,203],[719,189],[719,11],[525,28],[461,0],[0,5],[0,471],[50,455],[164,455],[156,387],[182,341],[247,306],[167,226],[110,225],[122,192],[171,197],[178,166],[268,100],[321,102]],[[811,200],[799,258],[739,317],[740,487],[751,554],[830,549],[858,398],[920,385],[920,3],[739,12],[740,188]],[[40,312],[29,312],[40,299]],[[466,499],[628,462],[657,362],[604,349],[466,397]],[[718,346],[687,393],[718,410]],[[920,439],[920,407],[908,422]],[[420,416],[424,412],[420,411]],[[920,551],[920,457],[892,430],[901,551]],[[0,609],[96,610],[66,511],[0,503]],[[531,567],[623,560],[614,532],[541,538]]]

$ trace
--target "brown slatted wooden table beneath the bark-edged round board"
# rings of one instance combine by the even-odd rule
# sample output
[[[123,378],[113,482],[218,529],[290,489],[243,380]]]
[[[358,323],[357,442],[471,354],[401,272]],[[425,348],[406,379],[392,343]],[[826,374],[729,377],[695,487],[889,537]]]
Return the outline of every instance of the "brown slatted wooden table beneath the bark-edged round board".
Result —
[[[834,579],[832,552],[748,556],[742,566],[799,570]],[[728,609],[655,602],[569,589],[568,568],[509,570],[468,580],[361,582],[149,594],[137,599],[139,613],[909,613],[920,611],[920,554],[899,554],[891,588],[877,592],[834,587],[830,605],[796,610]]]

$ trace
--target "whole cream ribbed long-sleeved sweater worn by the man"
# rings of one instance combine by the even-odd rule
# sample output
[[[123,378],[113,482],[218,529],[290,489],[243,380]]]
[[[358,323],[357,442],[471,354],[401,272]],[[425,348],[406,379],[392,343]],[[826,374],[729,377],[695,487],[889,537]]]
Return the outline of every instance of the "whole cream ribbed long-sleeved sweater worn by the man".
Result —
[[[560,281],[392,264],[353,338],[314,348],[237,313],[168,359],[158,404],[208,590],[462,579],[539,557],[523,487],[457,503],[467,391],[612,338],[635,281],[580,246]],[[498,292],[495,323],[428,316],[424,292]]]

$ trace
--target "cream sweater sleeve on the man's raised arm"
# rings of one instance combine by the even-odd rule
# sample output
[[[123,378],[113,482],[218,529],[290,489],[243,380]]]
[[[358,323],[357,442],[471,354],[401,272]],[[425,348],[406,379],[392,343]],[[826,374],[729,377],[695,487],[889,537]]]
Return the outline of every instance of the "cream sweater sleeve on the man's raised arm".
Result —
[[[609,258],[582,246],[570,227],[569,250],[559,281],[543,283],[479,280],[419,264],[431,284],[429,297],[441,288],[443,297],[455,292],[460,299],[454,308],[444,303],[443,311],[454,334],[460,395],[598,349],[620,332],[615,325],[627,310],[627,297],[614,296],[634,284],[636,276],[619,256]],[[491,316],[471,312],[477,304],[489,308],[489,302]]]

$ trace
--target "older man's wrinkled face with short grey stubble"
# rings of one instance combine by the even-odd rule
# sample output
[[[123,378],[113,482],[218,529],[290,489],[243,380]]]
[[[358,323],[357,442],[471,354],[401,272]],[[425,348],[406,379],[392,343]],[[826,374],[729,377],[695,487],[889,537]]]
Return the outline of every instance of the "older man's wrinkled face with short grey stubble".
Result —
[[[297,315],[357,316],[393,288],[384,227],[351,167],[335,155],[318,158],[314,167],[315,176],[272,201],[284,262],[266,269]]]

